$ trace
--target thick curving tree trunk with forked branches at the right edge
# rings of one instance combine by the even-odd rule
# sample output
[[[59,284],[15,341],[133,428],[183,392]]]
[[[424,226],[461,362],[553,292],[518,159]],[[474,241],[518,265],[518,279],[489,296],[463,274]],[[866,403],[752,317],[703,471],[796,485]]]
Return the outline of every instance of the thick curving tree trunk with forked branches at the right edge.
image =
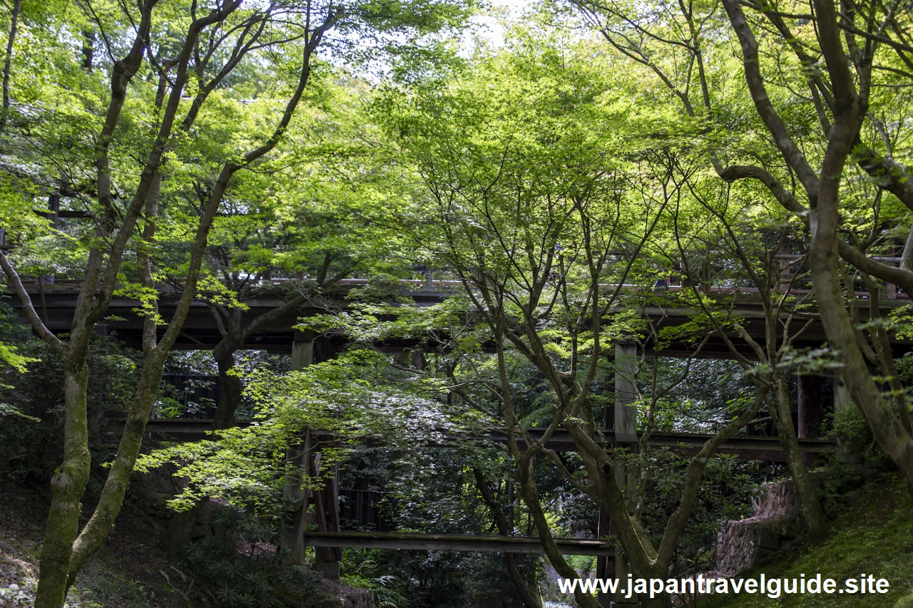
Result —
[[[846,311],[843,288],[840,284],[839,256],[856,267],[867,267],[872,261],[852,246],[843,236],[837,235],[840,225],[840,183],[844,178],[847,157],[858,139],[862,118],[868,110],[869,72],[851,73],[850,60],[846,57],[841,41],[841,28],[833,0],[813,0],[817,14],[818,40],[821,43],[824,66],[831,76],[834,94],[834,121],[827,136],[827,148],[821,163],[821,170],[815,174],[802,150],[792,141],[786,124],[773,108],[771,96],[767,93],[761,76],[758,43],[751,31],[748,20],[742,13],[737,0],[723,0],[733,31],[739,37],[742,48],[742,67],[758,116],[764,121],[777,145],[808,195],[806,210],[798,204],[782,184],[760,167],[734,167],[720,173],[723,179],[732,181],[751,177],[761,180],[783,206],[793,213],[808,213],[812,234],[809,247],[809,262],[812,268],[814,296],[821,313],[824,333],[838,361],[842,364],[841,376],[853,401],[866,417],[878,445],[894,461],[907,480],[907,488],[913,495],[913,436],[904,428],[897,415],[882,398],[879,387],[872,379],[866,366],[866,359],[856,342],[855,329]],[[857,80],[860,89],[856,89]],[[865,82],[864,82],[865,80]],[[864,86],[865,85],[865,86]],[[860,93],[860,91],[862,91]],[[885,269],[890,269],[886,267]],[[867,267],[866,272],[886,278],[897,284],[906,282],[904,273],[876,272],[877,267]]]

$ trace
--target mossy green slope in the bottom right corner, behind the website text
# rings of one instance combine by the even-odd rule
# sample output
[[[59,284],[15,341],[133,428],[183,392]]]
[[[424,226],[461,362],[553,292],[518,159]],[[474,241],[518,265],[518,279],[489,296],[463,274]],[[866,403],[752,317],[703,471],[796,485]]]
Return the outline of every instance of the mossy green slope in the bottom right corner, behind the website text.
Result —
[[[832,524],[831,534],[819,547],[792,557],[787,561],[769,564],[750,574],[759,578],[764,572],[768,578],[799,578],[821,573],[822,578],[842,582],[858,577],[861,572],[874,574],[890,582],[890,591],[884,595],[781,595],[772,600],[757,594],[716,596],[698,605],[700,608],[754,606],[834,606],[836,608],[862,608],[879,606],[913,608],[913,501],[899,480],[879,485],[866,492],[843,517]],[[749,575],[746,575],[749,576]]]

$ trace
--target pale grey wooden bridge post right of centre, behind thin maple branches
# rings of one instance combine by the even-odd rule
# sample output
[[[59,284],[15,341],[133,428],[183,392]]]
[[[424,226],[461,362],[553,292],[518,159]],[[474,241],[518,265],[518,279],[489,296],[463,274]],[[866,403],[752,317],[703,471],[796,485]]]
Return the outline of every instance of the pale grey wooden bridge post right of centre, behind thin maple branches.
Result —
[[[637,406],[635,405],[634,376],[637,369],[637,347],[635,344],[615,344],[615,405],[614,431],[616,447],[637,446]],[[616,463],[615,481],[622,487],[635,487],[635,471]],[[624,555],[615,556],[614,578],[626,579],[627,561]],[[624,593],[615,593],[614,603],[637,603],[637,596],[625,598]]]

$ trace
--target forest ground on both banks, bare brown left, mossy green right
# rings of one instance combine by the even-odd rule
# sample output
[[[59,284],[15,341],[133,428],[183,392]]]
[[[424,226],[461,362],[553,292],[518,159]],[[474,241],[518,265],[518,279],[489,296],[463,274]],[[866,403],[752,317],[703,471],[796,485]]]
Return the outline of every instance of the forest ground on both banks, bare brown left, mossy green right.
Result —
[[[46,501],[25,490],[0,487],[0,608],[31,605],[37,580]],[[79,575],[69,608],[184,608],[171,582],[181,574],[155,546],[158,535],[129,509],[121,513],[109,540]],[[860,573],[890,582],[886,594],[794,594],[771,599],[741,593],[709,597],[700,608],[834,607],[913,608],[913,500],[899,479],[864,493],[832,524],[822,545],[751,572],[758,579],[806,578],[821,573],[842,583]],[[163,573],[168,577],[163,576]],[[18,590],[11,587],[16,585]]]

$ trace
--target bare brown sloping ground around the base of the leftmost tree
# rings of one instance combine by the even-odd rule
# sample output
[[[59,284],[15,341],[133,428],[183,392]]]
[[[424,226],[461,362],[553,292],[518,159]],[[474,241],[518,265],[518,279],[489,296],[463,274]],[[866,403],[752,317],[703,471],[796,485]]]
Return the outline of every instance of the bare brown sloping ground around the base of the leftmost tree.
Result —
[[[0,487],[0,607],[30,606],[37,581],[47,501],[20,488]],[[166,582],[180,579],[168,556],[151,544],[157,538],[142,519],[125,511],[109,540],[79,574],[70,608],[184,608]],[[15,585],[15,587],[12,587]],[[12,587],[12,588],[11,588]]]

